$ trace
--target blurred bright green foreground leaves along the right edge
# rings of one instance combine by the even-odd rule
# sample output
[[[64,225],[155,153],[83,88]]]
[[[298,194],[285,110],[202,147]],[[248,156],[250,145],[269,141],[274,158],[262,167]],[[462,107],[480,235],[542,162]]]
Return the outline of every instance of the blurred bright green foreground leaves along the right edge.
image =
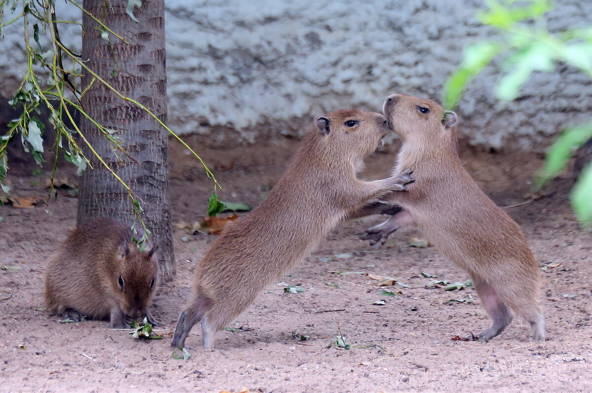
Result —
[[[499,33],[498,39],[466,47],[461,65],[444,84],[443,105],[453,109],[471,79],[496,59],[501,71],[496,96],[511,101],[533,72],[551,72],[565,63],[592,78],[592,26],[551,33],[546,14],[554,8],[549,0],[486,0],[487,10],[477,19]],[[545,164],[533,179],[538,191],[567,165],[572,153],[592,137],[592,121],[565,128],[549,147]],[[584,223],[592,219],[592,165],[588,165],[571,193],[571,203]]]

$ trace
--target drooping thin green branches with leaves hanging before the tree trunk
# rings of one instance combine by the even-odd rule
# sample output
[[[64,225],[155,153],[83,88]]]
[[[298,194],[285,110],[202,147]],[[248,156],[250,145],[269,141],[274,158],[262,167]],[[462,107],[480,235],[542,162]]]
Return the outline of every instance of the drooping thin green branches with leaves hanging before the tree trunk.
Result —
[[[86,9],[82,8],[75,0],[65,0],[67,4],[77,7],[84,14],[88,15],[99,24],[101,37],[112,45],[112,41],[121,41],[124,44],[128,42],[115,31],[112,31],[98,17],[91,15]],[[82,152],[81,144],[88,147],[88,150],[127,190],[137,220],[144,228],[145,240],[149,230],[147,230],[142,218],[142,202],[137,198],[133,189],[124,182],[120,176],[115,173],[112,167],[101,157],[94,147],[85,138],[85,134],[78,127],[75,121],[75,112],[78,111],[81,117],[90,121],[105,138],[108,139],[112,151],[117,159],[133,160],[133,157],[121,146],[121,139],[117,136],[117,131],[110,130],[97,123],[85,111],[81,103],[81,98],[89,91],[92,85],[100,83],[105,89],[110,90],[115,96],[127,102],[134,107],[139,108],[149,117],[154,118],[166,131],[173,137],[181,141],[202,164],[208,178],[213,179],[215,186],[218,185],[213,173],[208,169],[201,157],[189,147],[185,141],[172,131],[166,124],[160,120],[157,115],[150,111],[136,99],[121,94],[106,80],[97,75],[90,69],[76,51],[66,47],[60,40],[59,27],[64,24],[79,25],[73,21],[62,21],[56,16],[54,9],[55,0],[0,0],[0,35],[2,28],[21,22],[23,25],[23,40],[26,51],[27,71],[21,84],[14,94],[14,98],[9,101],[14,108],[21,111],[20,117],[8,124],[8,132],[0,138],[0,186],[4,192],[9,192],[10,188],[4,185],[3,180],[8,170],[7,147],[9,141],[20,136],[22,146],[27,153],[31,153],[37,164],[43,166],[44,142],[51,144],[50,150],[53,154],[52,173],[50,175],[50,189],[46,198],[49,204],[52,194],[57,197],[57,192],[53,186],[53,178],[56,172],[57,161],[62,152],[62,156],[68,162],[78,167],[78,174],[81,174],[87,167],[91,167],[88,157]],[[141,1],[129,0],[127,4],[127,14],[131,20],[133,16],[133,7],[140,7]],[[109,1],[105,1],[105,7],[110,7]],[[5,21],[5,15],[10,19]],[[45,36],[45,37],[44,37]],[[44,43],[49,44],[44,44]],[[82,72],[92,76],[92,80],[85,89],[80,89]],[[49,113],[49,123],[56,130],[56,137],[53,141],[44,139],[44,123],[40,120],[41,108],[46,108]],[[47,146],[48,143],[46,143]]]

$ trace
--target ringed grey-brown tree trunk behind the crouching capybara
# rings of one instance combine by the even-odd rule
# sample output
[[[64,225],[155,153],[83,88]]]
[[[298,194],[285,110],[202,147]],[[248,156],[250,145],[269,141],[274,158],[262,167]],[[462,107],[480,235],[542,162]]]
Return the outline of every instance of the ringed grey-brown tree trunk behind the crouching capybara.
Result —
[[[88,60],[86,65],[121,94],[136,99],[165,122],[164,1],[143,0],[140,8],[134,8],[134,16],[139,22],[134,22],[126,14],[126,5],[125,0],[83,1],[87,11],[103,20],[129,45],[112,34],[109,34],[111,44],[105,41],[99,25],[84,14],[82,59]],[[92,76],[85,73],[82,88],[86,88],[91,80]],[[150,242],[159,246],[157,255],[162,279],[170,281],[175,275],[175,259],[170,231],[168,134],[149,114],[124,102],[98,80],[83,96],[82,104],[97,123],[116,131],[114,136],[121,138],[121,146],[137,161],[133,162],[117,149],[112,149],[107,138],[83,118],[81,130],[84,136],[142,204],[142,218],[152,232]],[[88,168],[80,181],[78,226],[95,217],[110,217],[131,227],[136,216],[127,190],[94,154],[88,149],[85,154],[94,169]],[[136,228],[139,239],[139,223]]]

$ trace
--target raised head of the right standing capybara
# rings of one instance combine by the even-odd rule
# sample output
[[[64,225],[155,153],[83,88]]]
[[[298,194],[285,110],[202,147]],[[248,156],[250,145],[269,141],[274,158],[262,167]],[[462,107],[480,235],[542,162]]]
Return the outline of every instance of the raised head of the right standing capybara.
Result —
[[[456,139],[456,114],[431,99],[393,94],[382,106],[388,123],[403,140],[438,143]]]

